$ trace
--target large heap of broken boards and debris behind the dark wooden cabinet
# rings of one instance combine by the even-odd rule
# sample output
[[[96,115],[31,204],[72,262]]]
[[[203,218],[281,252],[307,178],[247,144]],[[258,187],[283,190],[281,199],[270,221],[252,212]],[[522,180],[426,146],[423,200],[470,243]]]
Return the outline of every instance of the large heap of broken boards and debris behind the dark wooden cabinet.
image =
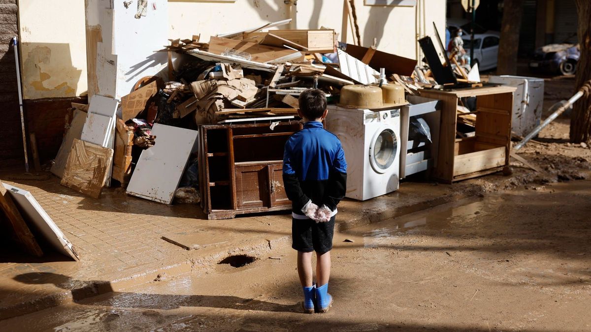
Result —
[[[169,54],[170,82],[144,77],[121,103],[95,95],[90,105],[73,105],[51,171],[61,184],[95,198],[114,179],[134,196],[199,202],[200,125],[297,119],[297,97],[306,89],[322,89],[336,102],[345,85],[387,77],[402,83],[398,75],[411,76],[417,64],[375,47],[338,43],[330,29],[262,31],[289,22],[218,34],[207,43],[200,35],[171,40],[160,50]],[[382,68],[381,75],[376,69]],[[155,184],[162,174],[165,181]]]

